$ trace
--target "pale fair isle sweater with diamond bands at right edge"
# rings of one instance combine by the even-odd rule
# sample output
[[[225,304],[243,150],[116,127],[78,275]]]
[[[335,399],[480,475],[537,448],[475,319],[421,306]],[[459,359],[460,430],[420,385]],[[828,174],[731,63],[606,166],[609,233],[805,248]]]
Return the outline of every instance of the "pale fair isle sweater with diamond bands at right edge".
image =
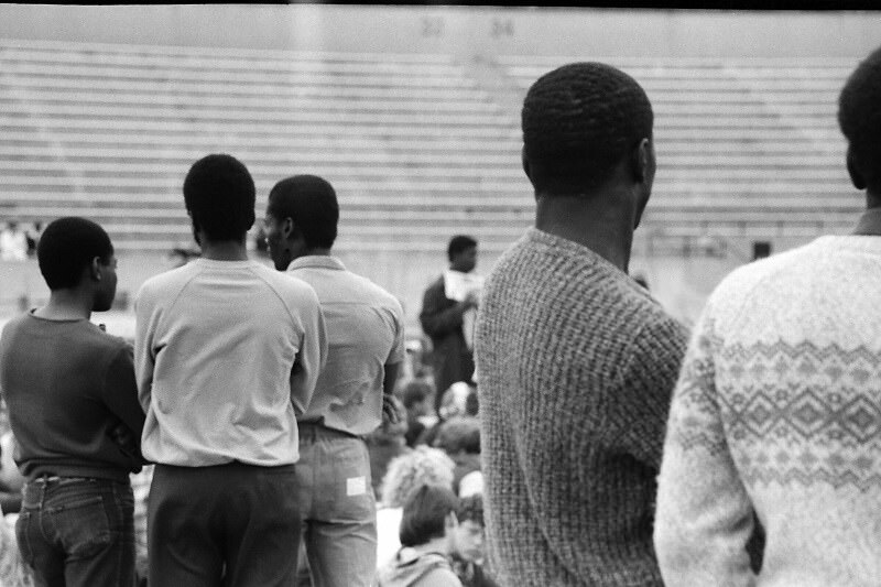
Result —
[[[881,585],[881,238],[822,237],[710,296],[676,388],[655,545],[670,587]],[[764,564],[743,546],[753,510]]]

